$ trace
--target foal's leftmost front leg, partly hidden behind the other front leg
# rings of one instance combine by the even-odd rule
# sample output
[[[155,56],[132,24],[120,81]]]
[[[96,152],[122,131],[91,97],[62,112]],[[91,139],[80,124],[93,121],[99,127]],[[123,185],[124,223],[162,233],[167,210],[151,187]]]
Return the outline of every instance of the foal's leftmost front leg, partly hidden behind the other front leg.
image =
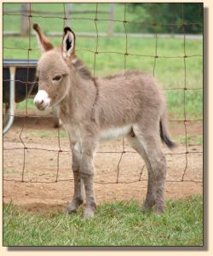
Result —
[[[74,177],[74,195],[71,203],[66,208],[66,212],[76,212],[78,207],[83,204],[83,180],[80,177],[80,160],[81,148],[79,143],[76,143],[72,148],[72,172]]]

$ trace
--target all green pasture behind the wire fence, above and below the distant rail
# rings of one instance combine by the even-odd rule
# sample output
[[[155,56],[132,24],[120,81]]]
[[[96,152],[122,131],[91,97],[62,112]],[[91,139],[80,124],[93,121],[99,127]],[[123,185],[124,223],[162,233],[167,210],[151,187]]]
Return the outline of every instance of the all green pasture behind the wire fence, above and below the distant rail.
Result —
[[[20,3],[4,3],[5,10],[19,9]],[[95,10],[95,3],[75,3],[73,10],[87,9]],[[62,3],[32,3],[32,9],[49,10],[63,12]],[[108,10],[109,3],[99,3],[98,11]],[[79,20],[79,18],[92,20]],[[98,13],[98,19],[107,19],[108,15]],[[71,26],[75,32],[96,32],[95,14],[72,15]],[[129,12],[127,5],[126,20],[134,20],[135,14]],[[124,20],[124,4],[117,3],[115,20]],[[31,24],[37,22],[43,29],[43,32],[62,32],[64,20],[58,18],[34,17]],[[85,22],[87,26],[85,26]],[[98,32],[107,32],[108,21],[96,21]],[[131,32],[130,24],[126,24],[127,32]],[[146,26],[146,25],[145,25]],[[4,15],[4,31],[20,31],[20,16]],[[123,22],[114,22],[115,32],[124,32]],[[54,45],[61,44],[60,37],[50,38]],[[126,49],[127,45],[127,49]],[[27,59],[30,47],[33,50],[29,52],[30,59],[37,59],[40,52],[37,49],[37,39],[3,37],[3,46],[12,49],[3,49],[3,58],[9,59]],[[184,63],[182,57],[187,57]],[[97,49],[96,49],[97,47]],[[14,48],[14,49],[13,49]],[[124,68],[139,69],[153,73],[154,56],[157,54],[154,75],[160,86],[166,90],[168,108],[171,119],[184,119],[184,90],[186,86],[186,118],[203,118],[203,93],[200,88],[203,87],[203,41],[186,38],[185,44],[182,38],[158,38],[156,52],[156,38],[130,38],[127,34],[127,44],[125,38],[77,38],[76,49],[78,56],[88,65],[96,76],[106,76],[117,73]],[[98,54],[95,55],[97,50]],[[92,51],[92,52],[91,52]],[[94,51],[94,52],[93,52]],[[124,55],[126,51],[130,55]],[[108,52],[108,53],[107,53]],[[110,53],[111,52],[111,53]],[[136,54],[136,55],[135,55]],[[141,55],[141,56],[139,56]],[[190,57],[191,56],[191,57]],[[166,58],[164,58],[166,57]],[[169,57],[169,58],[168,58]],[[186,64],[186,79],[185,79]],[[178,88],[178,89],[176,89]],[[181,88],[181,89],[180,89]],[[175,90],[176,89],[176,90]],[[197,90],[190,90],[197,89]],[[22,104],[22,107],[26,105]],[[32,105],[29,105],[29,109]]]

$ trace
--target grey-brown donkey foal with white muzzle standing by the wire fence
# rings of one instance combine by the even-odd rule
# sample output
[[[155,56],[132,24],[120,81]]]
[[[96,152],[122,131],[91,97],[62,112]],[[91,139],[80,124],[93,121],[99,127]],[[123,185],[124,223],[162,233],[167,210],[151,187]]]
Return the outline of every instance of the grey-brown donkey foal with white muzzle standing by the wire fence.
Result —
[[[166,129],[164,96],[147,73],[125,71],[103,79],[94,78],[75,54],[76,37],[64,29],[63,43],[54,48],[37,24],[33,25],[42,56],[37,63],[39,87],[34,103],[39,110],[53,104],[60,108],[60,119],[69,134],[72,148],[74,195],[67,212],[83,203],[84,217],[95,213],[93,179],[95,149],[100,139],[126,137],[145,160],[148,170],[147,197],[142,211],[153,207],[164,212],[166,162],[162,141],[172,148]]]

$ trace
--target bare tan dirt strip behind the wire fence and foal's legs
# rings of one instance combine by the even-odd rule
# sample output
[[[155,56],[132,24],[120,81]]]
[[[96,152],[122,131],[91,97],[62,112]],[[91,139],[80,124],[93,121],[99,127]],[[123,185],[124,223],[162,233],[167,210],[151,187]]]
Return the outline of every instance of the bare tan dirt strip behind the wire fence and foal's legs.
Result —
[[[12,200],[15,205],[30,211],[43,212],[51,209],[62,211],[71,200],[72,154],[66,133],[63,129],[60,131],[62,137],[59,140],[58,129],[53,128],[52,119],[49,118],[15,119],[12,129],[3,137],[3,148],[7,149],[3,150],[5,203]],[[190,135],[202,135],[202,123],[187,123],[187,132]],[[184,135],[184,124],[170,123],[170,133],[172,137]],[[27,148],[25,155],[24,145]],[[189,153],[185,154],[185,145],[178,145],[173,152],[164,148],[168,166],[167,199],[203,192],[200,183],[203,178],[203,148],[189,144],[187,150]],[[112,151],[117,153],[106,153]],[[101,143],[98,149],[98,152],[105,152],[97,153],[95,158],[95,196],[98,204],[131,199],[141,203],[146,195],[147,169],[143,168],[143,160],[124,141],[126,153],[122,156],[118,173],[122,151],[122,139]],[[184,181],[181,182],[183,175]],[[6,180],[21,181],[22,177],[24,183]]]

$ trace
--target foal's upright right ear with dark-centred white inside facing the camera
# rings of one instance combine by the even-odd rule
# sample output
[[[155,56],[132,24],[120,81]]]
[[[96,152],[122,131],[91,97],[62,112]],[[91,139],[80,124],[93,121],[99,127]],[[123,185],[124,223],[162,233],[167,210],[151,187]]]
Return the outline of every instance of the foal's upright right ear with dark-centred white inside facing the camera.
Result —
[[[71,28],[66,26],[64,28],[64,38],[62,45],[62,54],[65,59],[71,59],[75,56],[75,42],[76,36]]]

